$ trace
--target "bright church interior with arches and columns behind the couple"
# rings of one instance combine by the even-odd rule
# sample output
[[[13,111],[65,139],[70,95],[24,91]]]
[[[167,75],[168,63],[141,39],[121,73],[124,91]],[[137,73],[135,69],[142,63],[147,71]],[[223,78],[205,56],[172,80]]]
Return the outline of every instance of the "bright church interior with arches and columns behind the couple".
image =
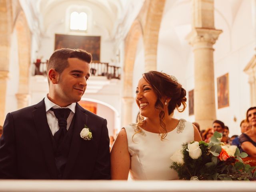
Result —
[[[187,108],[174,118],[216,119],[240,135],[256,106],[256,0],[0,0],[0,125],[48,93],[54,50],[92,53],[80,105],[106,118],[110,136],[136,122],[138,80],[174,75]]]

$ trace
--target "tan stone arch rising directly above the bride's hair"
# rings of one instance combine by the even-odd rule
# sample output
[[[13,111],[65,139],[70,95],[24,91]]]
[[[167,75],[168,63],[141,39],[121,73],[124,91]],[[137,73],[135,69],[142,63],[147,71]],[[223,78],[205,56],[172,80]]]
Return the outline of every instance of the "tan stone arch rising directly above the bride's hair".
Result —
[[[144,25],[145,71],[156,70],[158,34],[165,0],[149,0]]]

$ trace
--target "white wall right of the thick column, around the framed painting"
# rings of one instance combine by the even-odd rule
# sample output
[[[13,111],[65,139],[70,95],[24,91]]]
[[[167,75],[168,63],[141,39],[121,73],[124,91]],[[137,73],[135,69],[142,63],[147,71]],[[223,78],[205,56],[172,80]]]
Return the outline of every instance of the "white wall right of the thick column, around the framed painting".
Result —
[[[220,4],[219,0],[216,2]],[[251,20],[251,2],[241,1],[236,14],[234,14],[235,10],[229,9],[231,8],[226,8],[226,12],[221,14],[215,12],[216,28],[222,29],[223,33],[220,34],[214,46],[216,50],[214,53],[214,83],[216,117],[229,127],[230,136],[232,136],[240,134],[240,122],[245,118],[246,110],[250,107],[248,76],[243,70],[254,54],[255,38]],[[229,74],[230,106],[218,109],[216,79],[226,73]],[[237,120],[235,121],[234,118]]]

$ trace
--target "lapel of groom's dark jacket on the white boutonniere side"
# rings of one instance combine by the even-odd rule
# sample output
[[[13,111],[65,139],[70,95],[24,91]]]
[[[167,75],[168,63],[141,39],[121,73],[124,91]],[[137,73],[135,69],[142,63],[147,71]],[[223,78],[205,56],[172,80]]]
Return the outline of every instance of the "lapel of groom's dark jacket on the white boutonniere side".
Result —
[[[68,154],[68,161],[64,170],[63,179],[67,179],[68,174],[72,170],[75,159],[80,150],[81,143],[83,139],[80,137],[80,132],[84,128],[84,125],[87,124],[88,116],[85,114],[84,108],[82,108],[79,104],[76,103],[76,113],[74,115],[74,132],[72,136],[72,143],[70,146],[70,151]]]

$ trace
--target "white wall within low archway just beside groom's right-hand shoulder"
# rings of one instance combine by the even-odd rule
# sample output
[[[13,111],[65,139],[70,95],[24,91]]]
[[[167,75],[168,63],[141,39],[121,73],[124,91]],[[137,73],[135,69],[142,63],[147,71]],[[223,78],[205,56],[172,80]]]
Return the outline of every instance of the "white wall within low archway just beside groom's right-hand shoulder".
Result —
[[[115,112],[109,107],[98,103],[97,115],[107,120],[108,134],[113,136],[115,128]]]

